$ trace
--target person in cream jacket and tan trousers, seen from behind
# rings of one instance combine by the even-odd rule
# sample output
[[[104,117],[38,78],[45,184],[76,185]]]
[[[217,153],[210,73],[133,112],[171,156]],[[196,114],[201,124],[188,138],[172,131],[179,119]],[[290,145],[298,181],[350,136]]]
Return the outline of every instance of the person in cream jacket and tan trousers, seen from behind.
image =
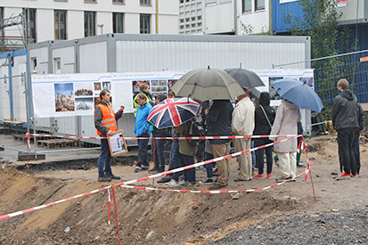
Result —
[[[238,96],[238,102],[233,110],[233,135],[252,135],[254,129],[254,104],[250,101],[250,92],[244,88],[245,94]],[[250,138],[234,139],[234,151],[245,151],[250,149]],[[248,181],[252,179],[251,153],[247,152],[237,157],[239,164],[239,177],[235,182]]]

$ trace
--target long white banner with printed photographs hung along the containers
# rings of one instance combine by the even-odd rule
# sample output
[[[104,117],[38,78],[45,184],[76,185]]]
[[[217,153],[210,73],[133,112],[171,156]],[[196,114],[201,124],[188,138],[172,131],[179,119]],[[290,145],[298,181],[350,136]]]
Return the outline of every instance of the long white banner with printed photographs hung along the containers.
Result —
[[[305,81],[314,87],[313,69],[252,69],[265,86],[252,89],[256,96],[267,91],[271,105],[278,106],[281,98],[270,86],[281,78]],[[49,74],[32,76],[33,108],[35,118],[93,115],[94,107],[100,102],[100,92],[108,89],[115,111],[125,106],[125,113],[133,113],[134,94],[142,84],[147,84],[154,100],[156,95],[168,96],[168,90],[175,85],[186,71],[158,71],[134,73],[93,73],[93,74]]]

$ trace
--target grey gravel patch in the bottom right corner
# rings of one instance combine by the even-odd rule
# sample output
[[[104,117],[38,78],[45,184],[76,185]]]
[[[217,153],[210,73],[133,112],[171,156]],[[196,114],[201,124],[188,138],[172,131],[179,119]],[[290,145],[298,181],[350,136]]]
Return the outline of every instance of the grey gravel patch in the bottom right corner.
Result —
[[[286,216],[207,244],[368,244],[368,208]]]

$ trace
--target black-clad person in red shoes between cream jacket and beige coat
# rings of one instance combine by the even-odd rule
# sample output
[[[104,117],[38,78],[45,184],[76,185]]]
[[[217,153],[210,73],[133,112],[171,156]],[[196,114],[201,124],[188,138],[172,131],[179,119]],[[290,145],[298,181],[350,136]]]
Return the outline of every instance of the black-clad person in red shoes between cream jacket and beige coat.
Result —
[[[270,94],[268,92],[263,92],[259,96],[259,105],[255,110],[255,128],[253,135],[270,135],[272,125],[274,124],[274,117],[276,113],[274,109],[270,106]],[[267,143],[272,143],[269,138],[255,138],[254,147],[265,145]],[[254,178],[263,179],[264,175],[264,154],[266,151],[266,164],[267,164],[267,178],[272,177],[272,151],[273,147],[268,146],[266,148],[258,149],[256,151],[256,161],[258,166],[258,174],[253,176]]]

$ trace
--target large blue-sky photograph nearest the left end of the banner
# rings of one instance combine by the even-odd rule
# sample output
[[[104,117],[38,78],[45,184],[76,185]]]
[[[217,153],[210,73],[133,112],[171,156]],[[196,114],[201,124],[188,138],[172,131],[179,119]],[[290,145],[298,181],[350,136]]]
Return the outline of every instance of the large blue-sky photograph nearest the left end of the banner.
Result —
[[[74,111],[74,89],[72,83],[54,84],[55,111]]]

